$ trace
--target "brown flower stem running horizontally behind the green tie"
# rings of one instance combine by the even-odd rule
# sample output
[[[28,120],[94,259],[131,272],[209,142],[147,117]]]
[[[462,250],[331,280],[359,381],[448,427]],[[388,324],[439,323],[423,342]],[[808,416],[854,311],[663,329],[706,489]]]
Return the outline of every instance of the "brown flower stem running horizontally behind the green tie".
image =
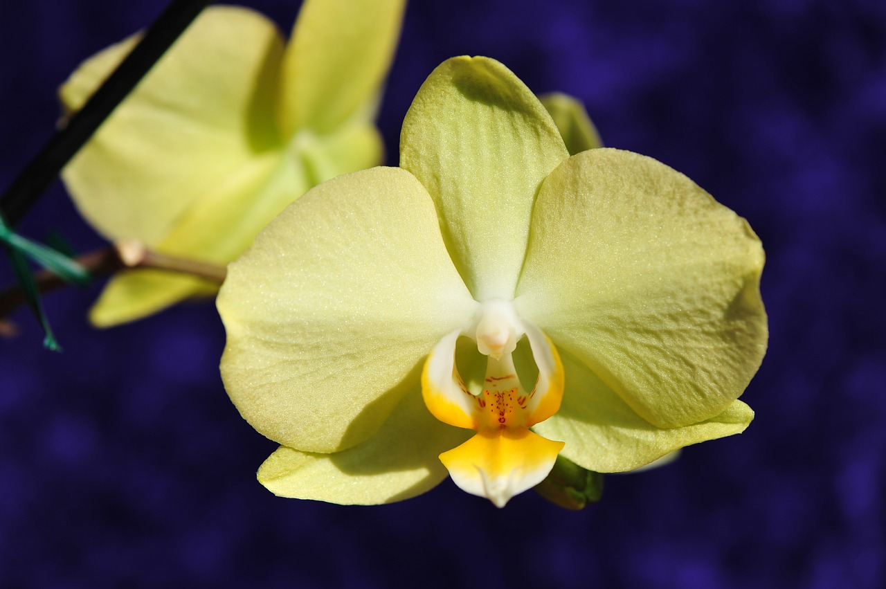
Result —
[[[120,270],[133,268],[155,268],[190,274],[221,284],[228,272],[227,268],[223,266],[153,252],[143,243],[134,240],[121,241],[104,250],[84,253],[75,260],[80,262],[94,277],[109,276]],[[35,273],[34,278],[37,289],[43,294],[57,291],[68,285],[57,275],[46,270]],[[11,337],[18,333],[15,324],[8,321],[6,317],[26,302],[25,293],[18,284],[0,292],[0,337]]]

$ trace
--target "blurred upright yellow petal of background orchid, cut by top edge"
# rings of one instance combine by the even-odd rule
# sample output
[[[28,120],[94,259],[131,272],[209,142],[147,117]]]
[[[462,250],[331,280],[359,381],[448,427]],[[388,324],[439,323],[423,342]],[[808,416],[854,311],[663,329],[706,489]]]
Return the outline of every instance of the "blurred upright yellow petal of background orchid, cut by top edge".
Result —
[[[280,82],[278,112],[285,135],[301,128],[328,133],[374,101],[391,66],[405,4],[306,0]]]

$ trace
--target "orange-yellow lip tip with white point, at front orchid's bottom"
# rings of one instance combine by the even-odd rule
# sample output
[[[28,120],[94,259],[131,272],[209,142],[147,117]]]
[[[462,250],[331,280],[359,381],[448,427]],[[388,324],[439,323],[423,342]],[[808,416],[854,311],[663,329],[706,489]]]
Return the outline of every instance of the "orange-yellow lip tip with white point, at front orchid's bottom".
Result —
[[[467,442],[440,454],[452,480],[463,491],[503,508],[508,500],[548,476],[563,442],[530,430],[480,430]]]

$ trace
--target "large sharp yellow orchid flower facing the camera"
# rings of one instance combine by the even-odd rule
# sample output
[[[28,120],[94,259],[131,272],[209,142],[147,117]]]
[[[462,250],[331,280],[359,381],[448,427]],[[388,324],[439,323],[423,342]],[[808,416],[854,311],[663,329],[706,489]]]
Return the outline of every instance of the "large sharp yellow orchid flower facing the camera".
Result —
[[[502,506],[558,453],[626,471],[744,430],[763,261],[686,176],[570,157],[505,66],[452,58],[400,167],[308,191],[230,265],[221,376],[282,445],[258,475],[278,495],[385,503],[448,472]]]

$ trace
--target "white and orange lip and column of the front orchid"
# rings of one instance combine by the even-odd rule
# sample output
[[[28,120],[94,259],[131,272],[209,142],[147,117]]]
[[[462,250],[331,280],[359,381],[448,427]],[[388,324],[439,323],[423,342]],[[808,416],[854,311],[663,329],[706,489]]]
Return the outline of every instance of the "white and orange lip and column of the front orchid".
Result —
[[[461,335],[472,336],[478,352],[486,356],[486,376],[478,394],[464,384],[455,365],[455,342]],[[528,391],[513,357],[522,337],[529,340],[539,368]],[[563,365],[548,337],[522,321],[509,301],[486,301],[469,330],[455,330],[434,346],[424,364],[422,392],[437,419],[478,432],[462,446],[440,454],[440,461],[462,490],[484,496],[498,507],[546,477],[563,449],[563,443],[530,430],[560,407]]]

